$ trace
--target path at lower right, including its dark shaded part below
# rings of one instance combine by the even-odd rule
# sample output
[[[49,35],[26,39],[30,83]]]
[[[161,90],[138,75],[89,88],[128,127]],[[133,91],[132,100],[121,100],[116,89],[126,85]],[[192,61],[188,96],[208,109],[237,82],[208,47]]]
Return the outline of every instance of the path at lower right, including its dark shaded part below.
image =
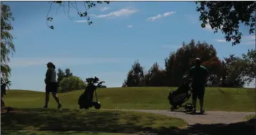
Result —
[[[153,114],[174,116],[187,121],[187,128],[163,131],[162,135],[184,134],[184,135],[227,135],[243,134],[255,135],[255,120],[245,121],[244,116],[255,114],[255,112],[232,112],[232,111],[207,111],[205,115],[185,114],[182,111],[167,110],[131,110],[142,111]]]

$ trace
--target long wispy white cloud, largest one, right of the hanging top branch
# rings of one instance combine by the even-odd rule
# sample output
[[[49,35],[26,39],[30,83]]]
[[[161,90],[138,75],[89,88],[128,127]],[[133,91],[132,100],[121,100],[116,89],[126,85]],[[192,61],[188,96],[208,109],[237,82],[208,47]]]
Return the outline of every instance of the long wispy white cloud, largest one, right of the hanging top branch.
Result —
[[[112,11],[109,14],[90,14],[94,18],[106,18],[106,17],[120,17],[120,16],[130,16],[139,11],[138,9],[132,9],[130,7],[125,9],[120,9],[119,11]]]

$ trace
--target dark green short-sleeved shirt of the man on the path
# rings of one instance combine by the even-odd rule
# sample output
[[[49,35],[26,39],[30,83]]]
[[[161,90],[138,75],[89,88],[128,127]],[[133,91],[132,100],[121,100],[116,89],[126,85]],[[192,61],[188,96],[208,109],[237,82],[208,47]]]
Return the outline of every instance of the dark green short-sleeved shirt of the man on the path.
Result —
[[[202,86],[205,85],[209,72],[205,66],[193,66],[189,69],[189,75],[192,77],[192,84]]]

